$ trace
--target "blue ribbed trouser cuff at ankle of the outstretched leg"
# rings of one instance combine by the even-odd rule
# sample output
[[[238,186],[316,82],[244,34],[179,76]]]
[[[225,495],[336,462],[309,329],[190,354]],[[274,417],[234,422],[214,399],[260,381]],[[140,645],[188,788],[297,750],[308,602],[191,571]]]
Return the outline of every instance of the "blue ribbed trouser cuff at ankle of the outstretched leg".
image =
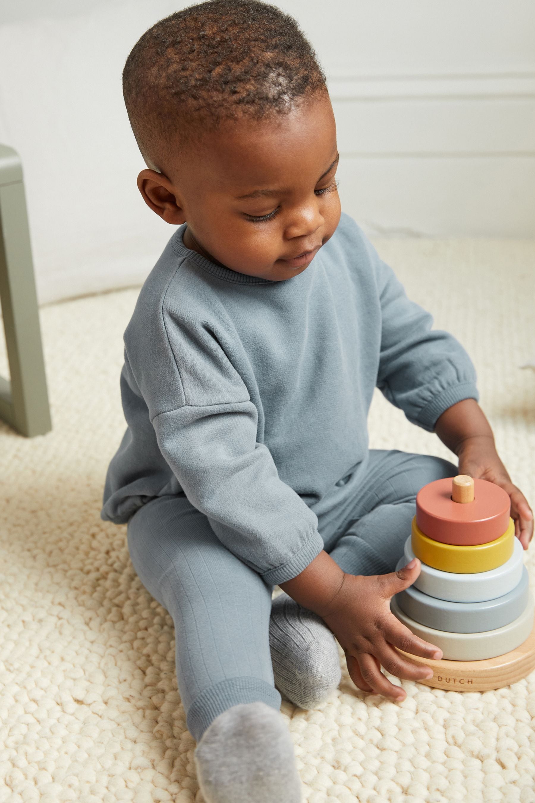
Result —
[[[217,716],[233,705],[265,703],[277,711],[281,695],[274,686],[259,678],[227,678],[216,683],[193,700],[186,721],[188,731],[197,742]]]

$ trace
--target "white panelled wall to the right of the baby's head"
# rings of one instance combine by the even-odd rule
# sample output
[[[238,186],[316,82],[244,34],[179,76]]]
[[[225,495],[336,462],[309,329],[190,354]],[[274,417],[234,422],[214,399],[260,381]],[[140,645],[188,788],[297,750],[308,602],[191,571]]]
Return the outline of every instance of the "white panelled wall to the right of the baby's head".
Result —
[[[342,203],[369,233],[535,236],[532,0],[281,5],[328,71]]]

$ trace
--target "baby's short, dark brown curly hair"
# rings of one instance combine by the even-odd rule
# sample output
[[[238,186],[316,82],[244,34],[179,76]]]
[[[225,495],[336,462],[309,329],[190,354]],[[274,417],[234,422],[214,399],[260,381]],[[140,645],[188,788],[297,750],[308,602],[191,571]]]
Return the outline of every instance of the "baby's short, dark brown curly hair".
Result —
[[[169,141],[245,115],[288,112],[326,91],[298,23],[260,0],[208,0],[160,19],[124,65],[124,103],[144,160],[161,169]]]

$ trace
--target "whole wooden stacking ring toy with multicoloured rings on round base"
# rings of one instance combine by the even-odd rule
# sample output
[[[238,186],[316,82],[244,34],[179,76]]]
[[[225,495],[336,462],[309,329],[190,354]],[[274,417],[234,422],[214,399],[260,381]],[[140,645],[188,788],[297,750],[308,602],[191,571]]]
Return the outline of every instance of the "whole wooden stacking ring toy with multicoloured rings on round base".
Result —
[[[429,483],[416,497],[401,569],[419,558],[419,577],[392,597],[391,611],[443,658],[427,686],[456,691],[499,689],[535,669],[535,601],[509,495],[494,483],[458,475]],[[397,648],[396,648],[397,649]]]

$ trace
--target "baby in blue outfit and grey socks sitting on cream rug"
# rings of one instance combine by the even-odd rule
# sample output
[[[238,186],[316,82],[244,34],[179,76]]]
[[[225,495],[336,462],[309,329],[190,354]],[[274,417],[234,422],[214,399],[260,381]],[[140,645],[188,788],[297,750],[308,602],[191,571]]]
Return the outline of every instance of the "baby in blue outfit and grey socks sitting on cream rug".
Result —
[[[420,487],[459,473],[533,514],[496,453],[468,355],[407,299],[340,210],[325,75],[298,24],[257,0],[160,20],[124,67],[144,201],[179,226],[124,333],[128,429],[102,517],[128,522],[140,580],[175,625],[207,803],[301,799],[281,694],[314,707],[338,646],[363,692],[403,700],[440,650],[390,611]],[[375,387],[459,465],[369,450]],[[283,589],[272,602],[274,586]]]

